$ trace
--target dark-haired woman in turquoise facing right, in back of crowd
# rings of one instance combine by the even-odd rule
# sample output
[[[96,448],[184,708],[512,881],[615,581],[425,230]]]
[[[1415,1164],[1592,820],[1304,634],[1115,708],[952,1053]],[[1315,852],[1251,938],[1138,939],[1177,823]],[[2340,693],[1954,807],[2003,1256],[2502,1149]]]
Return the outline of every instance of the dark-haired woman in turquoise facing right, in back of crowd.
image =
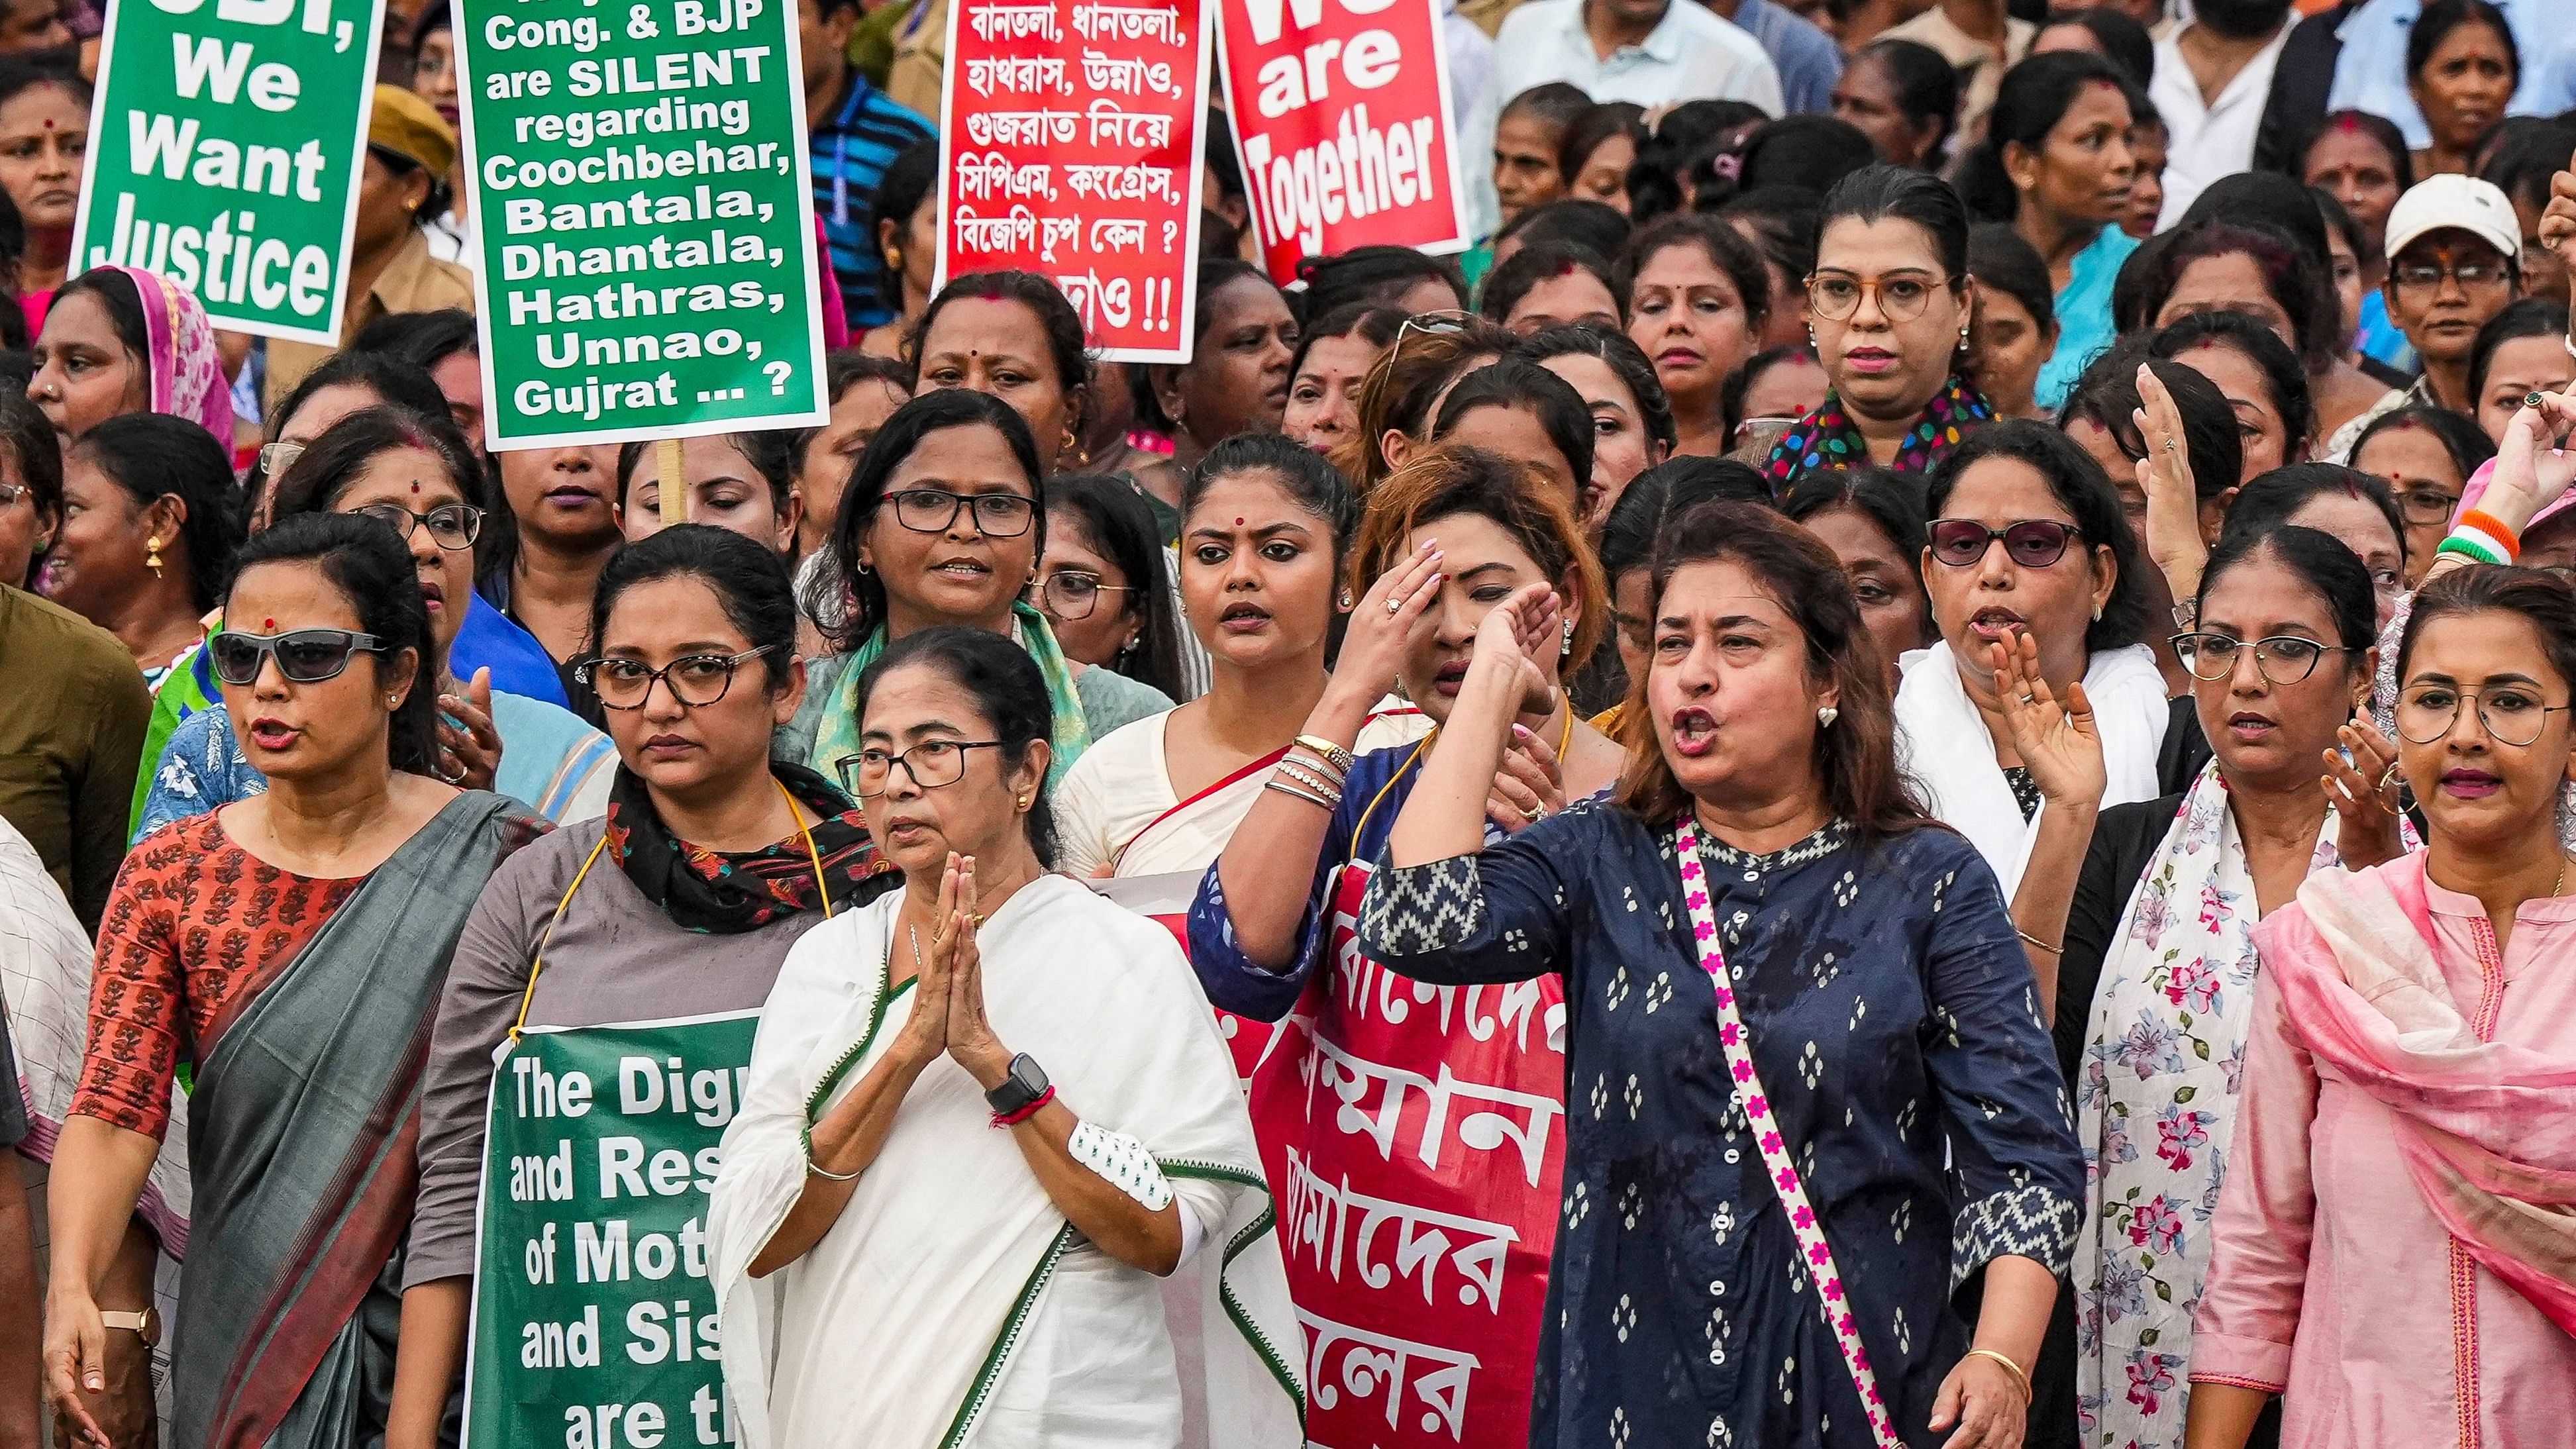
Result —
[[[2110,283],[2138,250],[2120,229],[2136,157],[2128,82],[2097,54],[2035,54],[2004,72],[1986,142],[1960,162],[1960,193],[1984,221],[2009,221],[2048,265],[2058,347],[2040,368],[2053,412],[2115,337]]]

